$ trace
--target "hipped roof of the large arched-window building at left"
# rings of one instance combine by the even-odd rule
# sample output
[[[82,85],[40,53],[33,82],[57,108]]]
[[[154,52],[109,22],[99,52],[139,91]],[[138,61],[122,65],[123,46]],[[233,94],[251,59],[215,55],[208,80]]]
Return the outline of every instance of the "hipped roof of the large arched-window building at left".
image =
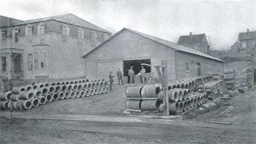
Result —
[[[109,31],[107,31],[107,30],[105,30],[101,27],[98,27],[96,25],[93,25],[90,22],[88,22],[88,21],[86,21],[82,18],[79,18],[79,17],[77,17],[73,14],[65,14],[65,15],[54,16],[54,17],[32,19],[32,20],[27,20],[27,21],[11,24],[8,27],[30,24],[30,23],[35,23],[35,22],[41,22],[41,21],[46,21],[46,20],[56,20],[56,21],[60,21],[60,22],[68,23],[68,24],[73,24],[73,25],[80,26],[80,27],[86,27],[86,28],[90,28],[90,29],[110,33]],[[7,26],[5,26],[5,27],[7,27]]]

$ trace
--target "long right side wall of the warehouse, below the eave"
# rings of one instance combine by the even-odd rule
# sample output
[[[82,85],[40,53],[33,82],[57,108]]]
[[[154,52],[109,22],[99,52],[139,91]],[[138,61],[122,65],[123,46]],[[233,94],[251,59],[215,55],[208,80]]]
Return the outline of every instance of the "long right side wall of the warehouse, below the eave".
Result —
[[[185,62],[189,62],[189,72],[186,72]],[[210,72],[224,71],[224,63],[199,55],[176,51],[177,80],[197,76],[197,63],[201,63],[201,75],[205,75]]]

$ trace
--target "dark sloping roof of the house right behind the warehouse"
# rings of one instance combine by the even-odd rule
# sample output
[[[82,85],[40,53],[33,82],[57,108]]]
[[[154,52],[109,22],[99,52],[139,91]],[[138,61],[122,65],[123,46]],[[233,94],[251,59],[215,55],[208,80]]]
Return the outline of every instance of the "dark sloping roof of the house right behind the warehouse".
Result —
[[[189,36],[180,36],[178,45],[183,46],[190,46],[195,45],[197,43],[202,43],[202,40],[204,38],[205,34],[199,34],[199,35],[189,35]]]

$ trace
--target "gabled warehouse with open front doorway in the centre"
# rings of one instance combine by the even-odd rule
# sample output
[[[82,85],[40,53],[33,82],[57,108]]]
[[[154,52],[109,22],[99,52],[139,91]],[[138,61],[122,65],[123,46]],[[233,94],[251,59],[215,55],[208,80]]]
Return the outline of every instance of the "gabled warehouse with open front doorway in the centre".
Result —
[[[169,80],[224,71],[224,61],[218,58],[127,28],[82,58],[88,78],[108,79],[109,71],[115,73],[119,68],[128,76],[130,66],[137,74],[141,70],[141,63],[160,65],[163,60],[167,62]],[[146,67],[146,72],[157,76],[154,68]]]

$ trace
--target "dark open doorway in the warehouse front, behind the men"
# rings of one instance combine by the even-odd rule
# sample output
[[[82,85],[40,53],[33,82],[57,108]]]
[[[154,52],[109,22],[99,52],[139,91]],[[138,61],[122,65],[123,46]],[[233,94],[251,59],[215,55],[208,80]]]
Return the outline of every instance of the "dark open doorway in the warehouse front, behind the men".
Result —
[[[128,76],[128,70],[131,66],[133,66],[134,74],[138,74],[141,70],[141,63],[151,64],[150,59],[143,59],[143,60],[129,60],[129,61],[123,61],[124,63],[124,76]],[[151,67],[144,66],[147,72],[151,72]],[[130,78],[128,77],[128,81],[130,81]]]

